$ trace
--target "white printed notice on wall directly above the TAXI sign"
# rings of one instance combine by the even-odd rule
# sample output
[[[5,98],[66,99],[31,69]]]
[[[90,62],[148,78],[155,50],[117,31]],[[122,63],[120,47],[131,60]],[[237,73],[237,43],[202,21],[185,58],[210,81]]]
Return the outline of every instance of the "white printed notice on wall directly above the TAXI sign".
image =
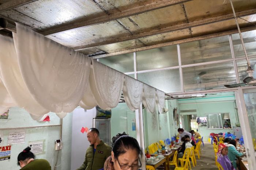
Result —
[[[25,143],[25,130],[10,131],[7,144]]]

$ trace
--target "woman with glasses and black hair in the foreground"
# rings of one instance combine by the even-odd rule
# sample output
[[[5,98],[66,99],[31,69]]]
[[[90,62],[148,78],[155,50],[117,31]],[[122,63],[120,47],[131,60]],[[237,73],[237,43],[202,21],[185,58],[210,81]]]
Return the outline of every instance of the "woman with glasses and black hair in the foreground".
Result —
[[[114,142],[104,170],[138,170],[141,167],[139,155],[142,155],[142,150],[137,140],[128,135],[121,136]]]

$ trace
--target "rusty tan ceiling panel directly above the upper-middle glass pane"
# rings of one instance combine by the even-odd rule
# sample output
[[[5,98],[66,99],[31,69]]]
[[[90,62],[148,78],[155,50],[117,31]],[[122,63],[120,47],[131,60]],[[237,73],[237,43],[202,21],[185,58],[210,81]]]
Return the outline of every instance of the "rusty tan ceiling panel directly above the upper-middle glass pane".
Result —
[[[140,38],[139,40],[141,40],[144,44],[146,44],[146,46],[150,46],[154,44],[166,43],[166,42],[190,38],[190,37],[191,37],[191,34],[189,29],[182,29],[179,31],[167,32],[159,35],[143,37],[143,38]]]

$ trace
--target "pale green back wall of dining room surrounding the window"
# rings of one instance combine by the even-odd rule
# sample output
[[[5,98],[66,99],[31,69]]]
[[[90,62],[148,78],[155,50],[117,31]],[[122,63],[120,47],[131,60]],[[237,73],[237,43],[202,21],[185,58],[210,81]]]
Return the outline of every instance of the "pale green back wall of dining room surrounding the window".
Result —
[[[235,126],[238,121],[236,119],[235,96],[233,92],[219,93],[216,95],[207,95],[204,98],[178,99],[180,110],[196,110],[196,112],[181,113],[181,115],[196,114],[197,117],[204,117],[206,114],[212,113],[230,113],[231,126]],[[199,133],[207,141],[210,133],[233,133],[233,129],[207,129],[206,126],[199,126]]]

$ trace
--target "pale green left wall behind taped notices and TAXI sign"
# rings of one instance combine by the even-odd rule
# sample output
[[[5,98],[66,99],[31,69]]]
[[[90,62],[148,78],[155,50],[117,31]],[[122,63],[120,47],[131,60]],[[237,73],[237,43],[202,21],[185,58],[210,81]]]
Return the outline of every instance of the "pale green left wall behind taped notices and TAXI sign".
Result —
[[[10,108],[9,118],[7,120],[0,120],[0,134],[3,141],[1,146],[7,146],[8,135],[12,129],[8,128],[23,128],[30,127],[25,130],[25,143],[11,145],[11,159],[0,161],[0,169],[20,169],[17,165],[18,154],[25,149],[29,142],[44,140],[44,153],[35,155],[37,159],[47,159],[54,169],[54,165],[60,165],[56,167],[56,170],[70,170],[71,168],[71,138],[72,138],[72,113],[67,114],[63,118],[63,129],[62,129],[62,142],[63,149],[59,151],[58,160],[57,154],[58,151],[54,150],[54,142],[56,139],[60,139],[60,126],[49,125],[59,125],[60,118],[56,116],[55,113],[49,113],[50,122],[37,122],[33,120],[29,113],[22,108],[12,107]],[[38,127],[35,126],[46,126]],[[6,129],[6,130],[1,130]]]

